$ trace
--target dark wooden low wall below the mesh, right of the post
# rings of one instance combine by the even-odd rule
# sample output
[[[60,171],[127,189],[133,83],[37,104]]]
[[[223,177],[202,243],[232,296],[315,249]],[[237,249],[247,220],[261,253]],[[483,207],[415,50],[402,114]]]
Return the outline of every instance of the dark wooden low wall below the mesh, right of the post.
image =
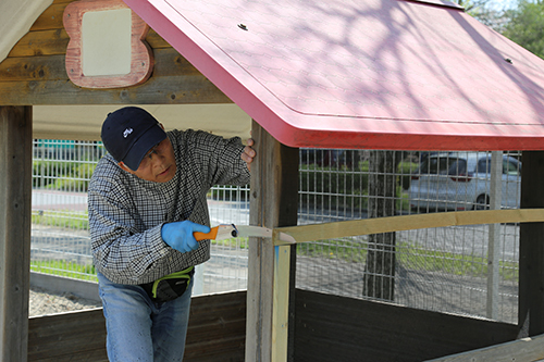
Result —
[[[517,326],[296,290],[295,361],[413,362],[516,339]]]

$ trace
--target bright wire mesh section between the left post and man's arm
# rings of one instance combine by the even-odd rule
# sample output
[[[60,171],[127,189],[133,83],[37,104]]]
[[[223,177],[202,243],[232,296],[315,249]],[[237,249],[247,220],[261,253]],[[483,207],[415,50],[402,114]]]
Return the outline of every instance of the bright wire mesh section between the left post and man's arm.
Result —
[[[32,270],[96,280],[87,219],[87,187],[98,142],[34,140]]]

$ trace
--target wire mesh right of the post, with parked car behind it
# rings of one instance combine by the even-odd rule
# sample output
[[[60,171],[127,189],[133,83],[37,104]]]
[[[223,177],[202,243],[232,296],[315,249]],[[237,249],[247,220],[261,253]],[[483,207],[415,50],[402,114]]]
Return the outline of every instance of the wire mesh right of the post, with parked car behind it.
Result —
[[[337,154],[338,158],[331,158]],[[329,157],[329,160],[325,161]],[[301,150],[299,224],[519,208],[520,154]],[[492,190],[498,177],[499,190]],[[517,321],[518,225],[436,227],[297,246],[297,287],[353,298]],[[490,246],[499,265],[491,287]]]

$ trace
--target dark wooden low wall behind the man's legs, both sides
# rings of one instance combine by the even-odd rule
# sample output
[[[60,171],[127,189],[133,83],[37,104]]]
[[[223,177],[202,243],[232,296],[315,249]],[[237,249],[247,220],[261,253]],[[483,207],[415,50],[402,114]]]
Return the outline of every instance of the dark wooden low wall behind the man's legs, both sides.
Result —
[[[102,309],[29,319],[28,361],[108,361]],[[195,297],[184,361],[244,361],[246,292]]]

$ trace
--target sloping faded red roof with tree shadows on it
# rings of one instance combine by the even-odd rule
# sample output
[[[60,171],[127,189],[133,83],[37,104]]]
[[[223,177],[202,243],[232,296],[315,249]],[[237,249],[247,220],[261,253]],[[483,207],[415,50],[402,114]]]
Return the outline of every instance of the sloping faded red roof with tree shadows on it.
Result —
[[[455,4],[125,2],[287,146],[544,149],[544,61]]]

